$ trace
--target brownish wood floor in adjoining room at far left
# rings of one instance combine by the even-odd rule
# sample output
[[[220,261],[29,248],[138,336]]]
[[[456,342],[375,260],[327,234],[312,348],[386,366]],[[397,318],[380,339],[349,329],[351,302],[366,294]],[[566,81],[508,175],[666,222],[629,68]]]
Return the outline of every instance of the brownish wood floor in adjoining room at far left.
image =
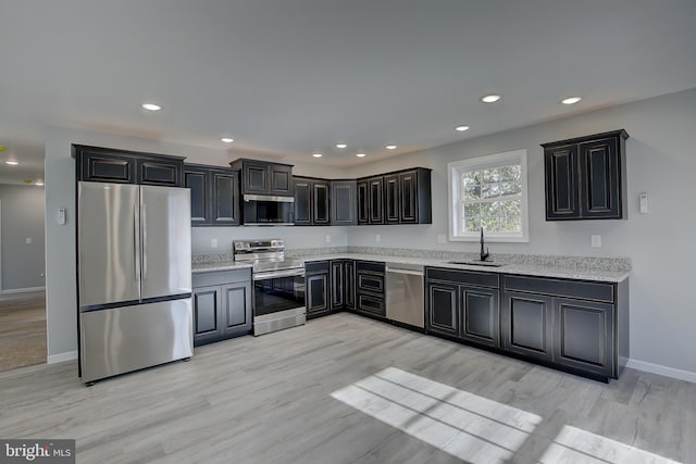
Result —
[[[46,293],[0,294],[0,371],[46,362]]]

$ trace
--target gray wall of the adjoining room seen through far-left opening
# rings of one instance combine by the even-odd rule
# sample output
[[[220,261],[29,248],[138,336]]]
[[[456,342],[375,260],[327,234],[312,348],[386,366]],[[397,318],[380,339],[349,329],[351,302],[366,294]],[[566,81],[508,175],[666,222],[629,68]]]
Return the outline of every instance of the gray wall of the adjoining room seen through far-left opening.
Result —
[[[0,184],[2,208],[2,286],[44,287],[44,187]],[[32,239],[27,243],[26,239]]]

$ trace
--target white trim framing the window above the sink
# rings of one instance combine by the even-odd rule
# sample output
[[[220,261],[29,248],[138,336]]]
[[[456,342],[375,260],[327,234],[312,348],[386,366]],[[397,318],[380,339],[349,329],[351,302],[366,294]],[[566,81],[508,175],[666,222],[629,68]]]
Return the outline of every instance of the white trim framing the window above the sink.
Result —
[[[505,153],[489,154],[486,156],[472,158],[468,160],[453,161],[447,163],[447,220],[449,229],[449,241],[478,241],[480,237],[476,233],[474,235],[460,235],[458,230],[455,230],[453,214],[458,211],[459,198],[453,192],[459,192],[459,176],[456,175],[461,167],[476,166],[477,168],[486,168],[489,166],[498,166],[500,163],[507,161],[519,161],[522,166],[522,195],[520,203],[522,208],[522,231],[517,236],[498,235],[495,233],[486,234],[486,241],[492,242],[529,242],[530,241],[530,205],[529,205],[529,183],[527,183],[527,165],[526,165],[526,149],[506,151]]]

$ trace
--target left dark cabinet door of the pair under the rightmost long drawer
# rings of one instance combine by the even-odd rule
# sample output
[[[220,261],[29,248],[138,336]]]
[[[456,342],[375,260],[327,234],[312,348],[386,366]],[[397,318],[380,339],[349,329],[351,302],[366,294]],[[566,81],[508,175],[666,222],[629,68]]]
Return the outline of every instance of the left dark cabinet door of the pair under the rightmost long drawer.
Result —
[[[500,315],[502,349],[526,358],[551,361],[551,298],[504,292]]]

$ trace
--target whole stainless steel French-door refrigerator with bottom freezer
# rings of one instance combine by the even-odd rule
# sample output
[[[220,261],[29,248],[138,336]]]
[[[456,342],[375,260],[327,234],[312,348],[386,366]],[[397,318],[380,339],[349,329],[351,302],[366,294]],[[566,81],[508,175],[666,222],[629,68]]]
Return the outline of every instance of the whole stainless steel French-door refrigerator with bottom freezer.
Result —
[[[77,188],[83,381],[190,358],[190,190]]]

